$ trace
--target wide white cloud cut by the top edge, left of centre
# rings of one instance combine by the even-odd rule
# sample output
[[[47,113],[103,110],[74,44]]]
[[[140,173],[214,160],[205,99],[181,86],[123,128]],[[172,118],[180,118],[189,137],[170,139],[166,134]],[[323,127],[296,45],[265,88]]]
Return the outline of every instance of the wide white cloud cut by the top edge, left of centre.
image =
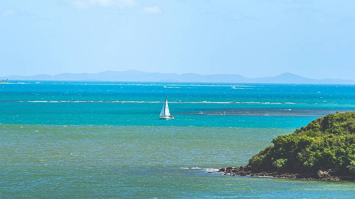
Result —
[[[72,0],[72,2],[79,8],[86,8],[91,6],[129,7],[129,6],[139,5],[139,3],[136,0]]]

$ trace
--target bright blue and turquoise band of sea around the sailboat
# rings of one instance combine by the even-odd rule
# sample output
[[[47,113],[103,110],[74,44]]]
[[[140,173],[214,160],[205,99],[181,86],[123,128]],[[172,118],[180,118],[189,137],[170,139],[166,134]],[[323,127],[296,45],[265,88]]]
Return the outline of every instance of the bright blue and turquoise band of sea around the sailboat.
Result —
[[[165,85],[165,87],[164,87]],[[0,84],[0,123],[297,128],[355,109],[354,85]],[[157,120],[169,97],[174,122]]]

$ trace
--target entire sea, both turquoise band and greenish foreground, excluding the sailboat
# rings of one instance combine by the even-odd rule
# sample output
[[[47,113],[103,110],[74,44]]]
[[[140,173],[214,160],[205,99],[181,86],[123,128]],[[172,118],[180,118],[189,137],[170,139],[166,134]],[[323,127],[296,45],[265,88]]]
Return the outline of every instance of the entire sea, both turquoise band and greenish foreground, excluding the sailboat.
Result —
[[[351,85],[238,85],[0,84],[0,197],[354,197],[354,182],[208,173],[247,164],[318,116],[355,110]],[[174,121],[158,119],[166,95]]]

